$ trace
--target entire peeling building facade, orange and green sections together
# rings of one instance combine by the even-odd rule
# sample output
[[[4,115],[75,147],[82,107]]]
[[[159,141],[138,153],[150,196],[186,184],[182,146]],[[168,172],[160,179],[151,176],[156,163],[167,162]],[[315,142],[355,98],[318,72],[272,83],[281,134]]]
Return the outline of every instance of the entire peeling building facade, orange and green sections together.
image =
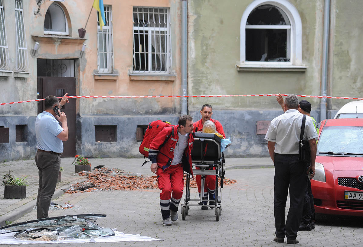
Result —
[[[252,0],[188,1],[188,95],[234,95],[295,93],[321,95],[324,0],[289,0],[302,21],[302,65],[305,71],[237,71],[240,60],[240,22]],[[179,0],[107,0],[113,11],[113,75],[97,73],[97,12],[91,11],[84,39],[84,28],[93,0],[65,0],[69,37],[44,35],[44,17],[53,1],[24,0],[24,21],[29,66],[26,73],[15,71],[15,4],[3,0],[10,63],[0,71],[0,102],[37,98],[37,59],[74,59],[77,95],[180,95],[181,3]],[[362,82],[360,54],[363,21],[362,2],[331,1],[330,46],[327,95],[360,96]],[[171,16],[173,80],[130,76],[132,70],[132,7],[168,7]],[[69,38],[69,39],[67,39]],[[40,47],[33,56],[34,42]],[[83,56],[80,51],[85,43]],[[180,99],[77,99],[76,152],[84,156],[140,157],[136,128],[162,119],[176,124]],[[320,100],[309,99],[311,115],[319,121]],[[346,100],[328,100],[328,117],[333,117]],[[200,119],[203,104],[213,106],[232,146],[227,157],[268,156],[264,135],[257,135],[256,122],[272,120],[282,113],[274,97],[188,98],[188,112]],[[9,142],[0,143],[0,162],[32,158],[36,151],[34,122],[37,103],[0,106],[1,126],[9,128]],[[16,125],[28,125],[27,141],[16,142]],[[96,142],[95,125],[116,125],[117,141]]]

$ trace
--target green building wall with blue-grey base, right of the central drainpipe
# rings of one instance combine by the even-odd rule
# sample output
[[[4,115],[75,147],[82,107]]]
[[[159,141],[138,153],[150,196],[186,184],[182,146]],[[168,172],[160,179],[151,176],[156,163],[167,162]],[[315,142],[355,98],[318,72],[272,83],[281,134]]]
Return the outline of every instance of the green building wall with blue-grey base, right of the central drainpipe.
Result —
[[[289,0],[302,22],[304,72],[237,71],[241,17],[252,2],[188,1],[188,94],[321,95],[324,1]],[[362,4],[358,0],[331,1],[327,95],[361,97]],[[311,116],[319,121],[320,100],[308,100],[313,108]],[[328,102],[327,116],[334,117],[349,101]],[[226,136],[231,136],[227,156],[268,156],[267,141],[264,135],[257,135],[256,123],[282,114],[275,97],[192,98],[188,110],[196,119],[203,104],[213,106],[213,118],[222,123]]]

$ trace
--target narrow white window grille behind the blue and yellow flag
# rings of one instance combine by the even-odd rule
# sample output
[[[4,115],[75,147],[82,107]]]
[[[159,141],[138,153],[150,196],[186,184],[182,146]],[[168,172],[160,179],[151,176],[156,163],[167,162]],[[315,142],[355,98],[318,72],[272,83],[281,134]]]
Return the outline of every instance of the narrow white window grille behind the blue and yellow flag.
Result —
[[[113,28],[112,28],[112,9],[111,6],[105,5],[105,26],[102,30],[99,26],[99,16],[97,12],[97,71],[101,73],[111,73],[114,66],[113,56]]]

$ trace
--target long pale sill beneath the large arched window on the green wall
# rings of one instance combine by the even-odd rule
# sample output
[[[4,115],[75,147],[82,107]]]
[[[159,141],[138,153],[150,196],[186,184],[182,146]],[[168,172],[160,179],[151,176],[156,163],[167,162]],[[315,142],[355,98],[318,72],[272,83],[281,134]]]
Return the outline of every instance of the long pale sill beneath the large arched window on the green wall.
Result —
[[[237,71],[287,71],[287,72],[305,72],[306,66],[295,65],[257,65],[257,64],[236,64]]]

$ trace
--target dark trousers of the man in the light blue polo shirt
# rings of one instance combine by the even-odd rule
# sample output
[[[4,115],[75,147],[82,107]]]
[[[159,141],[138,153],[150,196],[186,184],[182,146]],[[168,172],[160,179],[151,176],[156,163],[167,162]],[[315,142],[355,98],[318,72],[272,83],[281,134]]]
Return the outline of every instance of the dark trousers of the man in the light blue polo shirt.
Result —
[[[37,151],[35,163],[39,175],[37,219],[48,218],[50,200],[56,190],[61,157],[57,154]]]

